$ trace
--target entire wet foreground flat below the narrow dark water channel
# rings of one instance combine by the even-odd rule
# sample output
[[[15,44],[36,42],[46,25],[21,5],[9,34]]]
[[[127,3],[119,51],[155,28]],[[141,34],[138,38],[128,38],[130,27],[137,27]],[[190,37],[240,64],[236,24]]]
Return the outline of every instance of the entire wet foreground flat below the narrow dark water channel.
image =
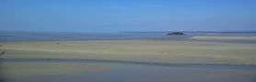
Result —
[[[131,64],[5,62],[6,82],[254,82],[256,70]]]

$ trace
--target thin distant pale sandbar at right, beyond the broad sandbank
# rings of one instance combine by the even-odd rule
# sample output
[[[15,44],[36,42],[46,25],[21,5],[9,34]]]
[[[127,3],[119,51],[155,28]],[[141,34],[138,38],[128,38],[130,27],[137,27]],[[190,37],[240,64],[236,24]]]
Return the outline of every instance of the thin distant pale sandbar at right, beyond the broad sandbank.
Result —
[[[256,40],[256,36],[192,36],[191,39],[206,39],[206,40]]]

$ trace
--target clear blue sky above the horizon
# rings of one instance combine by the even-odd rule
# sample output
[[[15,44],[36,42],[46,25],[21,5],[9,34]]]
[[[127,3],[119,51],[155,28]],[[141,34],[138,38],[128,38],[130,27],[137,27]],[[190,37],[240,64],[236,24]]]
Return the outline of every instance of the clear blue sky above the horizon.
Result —
[[[0,0],[0,30],[250,31],[256,0]]]

